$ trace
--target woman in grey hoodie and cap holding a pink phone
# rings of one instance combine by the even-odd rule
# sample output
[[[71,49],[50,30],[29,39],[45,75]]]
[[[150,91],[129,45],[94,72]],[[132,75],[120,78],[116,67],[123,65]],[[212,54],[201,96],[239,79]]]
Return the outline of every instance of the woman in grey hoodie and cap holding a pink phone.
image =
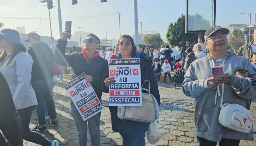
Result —
[[[255,69],[246,58],[226,51],[228,34],[227,28],[216,25],[209,28],[205,32],[204,44],[210,53],[192,62],[185,74],[183,91],[185,95],[195,98],[199,146],[216,146],[217,142],[219,146],[238,146],[240,140],[254,139],[252,132],[234,131],[218,121],[224,103],[239,104],[250,110],[249,99],[256,98]],[[214,67],[220,68],[219,71],[223,69],[224,73],[212,77],[211,68]],[[235,71],[239,69],[247,70],[248,78],[236,76]]]

